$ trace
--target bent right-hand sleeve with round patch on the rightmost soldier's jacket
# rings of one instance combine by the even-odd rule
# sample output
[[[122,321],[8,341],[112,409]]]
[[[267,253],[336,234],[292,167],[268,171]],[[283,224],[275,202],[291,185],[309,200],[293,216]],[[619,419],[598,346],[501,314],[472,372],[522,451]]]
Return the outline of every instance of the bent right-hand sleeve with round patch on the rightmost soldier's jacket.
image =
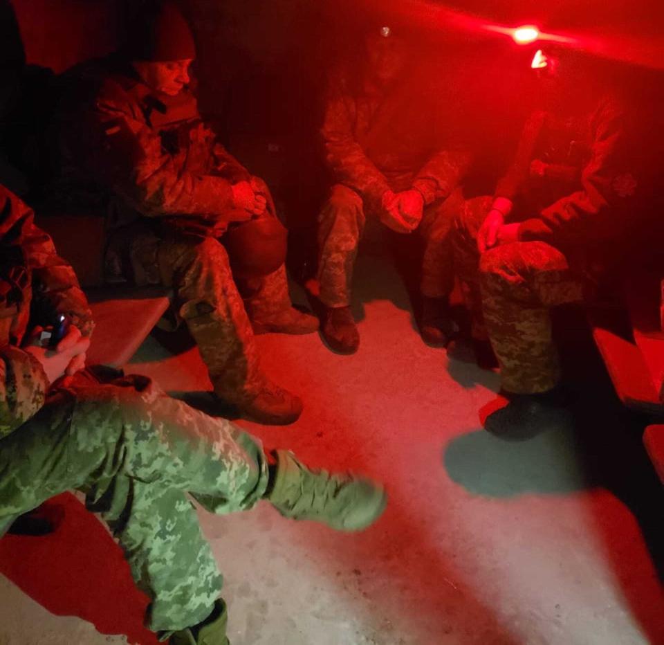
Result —
[[[626,125],[627,116],[615,102],[607,101],[598,109],[582,189],[545,208],[539,217],[522,222],[519,239],[571,244],[613,237],[612,231],[624,219],[620,212],[631,206],[638,188]]]

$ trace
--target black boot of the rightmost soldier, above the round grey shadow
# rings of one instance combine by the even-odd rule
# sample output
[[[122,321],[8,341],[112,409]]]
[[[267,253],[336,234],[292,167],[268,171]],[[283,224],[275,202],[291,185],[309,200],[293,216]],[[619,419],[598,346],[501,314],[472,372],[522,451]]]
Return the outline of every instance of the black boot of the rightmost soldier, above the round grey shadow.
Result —
[[[506,441],[526,441],[547,430],[564,430],[573,423],[569,399],[560,387],[538,394],[508,394],[508,404],[492,412],[484,429]]]

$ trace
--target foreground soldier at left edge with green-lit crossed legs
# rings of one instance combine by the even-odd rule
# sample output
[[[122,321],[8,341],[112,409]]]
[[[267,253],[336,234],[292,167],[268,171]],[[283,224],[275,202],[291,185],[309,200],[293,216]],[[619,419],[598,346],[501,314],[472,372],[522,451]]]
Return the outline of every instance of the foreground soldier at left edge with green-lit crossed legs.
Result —
[[[151,599],[147,626],[176,645],[224,645],[221,576],[187,493],[216,514],[266,499],[286,517],[341,531],[380,516],[385,493],[367,479],[266,453],[145,376],[102,383],[80,372],[93,328],[84,294],[33,213],[1,187],[0,260],[0,536],[48,498],[83,491]],[[52,348],[30,329],[48,322],[29,320],[31,306],[71,323]]]

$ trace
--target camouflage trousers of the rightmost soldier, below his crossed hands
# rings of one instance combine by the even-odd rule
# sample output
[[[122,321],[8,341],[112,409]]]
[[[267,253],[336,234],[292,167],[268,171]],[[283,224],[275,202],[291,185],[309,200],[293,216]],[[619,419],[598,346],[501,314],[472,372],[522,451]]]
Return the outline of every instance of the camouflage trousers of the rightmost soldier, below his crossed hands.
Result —
[[[492,198],[468,200],[454,235],[457,275],[475,338],[489,338],[504,390],[534,394],[560,381],[549,309],[580,302],[583,285],[563,253],[546,242],[513,242],[481,256],[477,231]]]

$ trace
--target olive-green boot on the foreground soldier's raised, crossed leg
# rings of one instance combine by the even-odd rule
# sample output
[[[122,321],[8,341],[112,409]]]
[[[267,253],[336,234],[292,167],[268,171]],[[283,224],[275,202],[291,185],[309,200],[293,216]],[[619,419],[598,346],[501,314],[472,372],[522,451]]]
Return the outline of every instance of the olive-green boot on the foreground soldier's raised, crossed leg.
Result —
[[[290,451],[276,451],[268,501],[284,517],[315,520],[338,531],[361,531],[387,505],[380,484],[351,474],[308,469]]]

